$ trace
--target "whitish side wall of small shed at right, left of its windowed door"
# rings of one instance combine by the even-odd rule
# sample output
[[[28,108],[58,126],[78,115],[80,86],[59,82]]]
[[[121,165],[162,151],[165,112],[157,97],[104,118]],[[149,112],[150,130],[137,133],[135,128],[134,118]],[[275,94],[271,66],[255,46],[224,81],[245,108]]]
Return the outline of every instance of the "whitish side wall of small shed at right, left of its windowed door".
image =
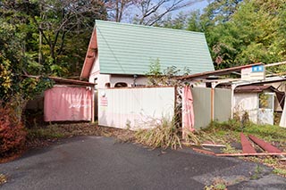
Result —
[[[259,97],[257,93],[235,93],[234,94],[234,112],[240,116],[248,112],[249,120],[257,123],[257,112],[259,107]]]

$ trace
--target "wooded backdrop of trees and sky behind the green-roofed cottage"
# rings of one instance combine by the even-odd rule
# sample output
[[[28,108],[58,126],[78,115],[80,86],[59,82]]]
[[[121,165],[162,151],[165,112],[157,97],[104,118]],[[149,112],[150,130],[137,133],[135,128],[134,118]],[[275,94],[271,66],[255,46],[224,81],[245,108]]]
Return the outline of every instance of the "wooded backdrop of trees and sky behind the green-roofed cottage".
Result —
[[[206,7],[194,10],[201,2]],[[96,19],[204,32],[215,69],[284,61],[285,3],[0,0],[0,99],[25,102],[51,85],[46,76],[79,78]]]

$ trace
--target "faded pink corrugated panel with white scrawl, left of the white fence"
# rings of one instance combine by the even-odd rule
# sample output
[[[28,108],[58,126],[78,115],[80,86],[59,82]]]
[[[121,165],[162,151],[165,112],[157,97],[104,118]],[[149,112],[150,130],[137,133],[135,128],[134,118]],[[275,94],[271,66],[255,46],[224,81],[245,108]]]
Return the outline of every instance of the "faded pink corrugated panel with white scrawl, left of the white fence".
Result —
[[[53,87],[45,92],[45,121],[91,120],[92,92],[85,87]]]

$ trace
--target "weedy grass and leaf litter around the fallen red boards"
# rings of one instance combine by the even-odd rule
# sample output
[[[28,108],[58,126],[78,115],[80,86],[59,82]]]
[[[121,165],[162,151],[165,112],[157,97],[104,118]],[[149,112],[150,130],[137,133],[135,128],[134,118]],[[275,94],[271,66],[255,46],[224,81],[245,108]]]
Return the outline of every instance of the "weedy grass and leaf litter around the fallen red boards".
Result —
[[[227,122],[219,123],[212,122],[204,131],[217,139],[224,139],[226,147],[223,153],[237,153],[230,145],[231,142],[240,142],[240,132],[245,135],[253,135],[264,139],[282,151],[286,151],[286,128],[272,125],[257,125],[247,122],[241,125],[238,120],[229,120]],[[286,177],[286,165],[277,157],[263,156],[263,157],[243,157],[243,160],[263,163],[268,167],[273,168],[273,173]],[[255,178],[256,175],[253,176]]]

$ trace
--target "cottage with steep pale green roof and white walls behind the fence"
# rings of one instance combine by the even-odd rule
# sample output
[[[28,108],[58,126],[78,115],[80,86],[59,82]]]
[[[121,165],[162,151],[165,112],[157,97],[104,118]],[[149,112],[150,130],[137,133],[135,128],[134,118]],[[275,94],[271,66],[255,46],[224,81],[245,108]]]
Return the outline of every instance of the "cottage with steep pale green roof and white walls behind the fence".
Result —
[[[214,70],[204,33],[96,21],[80,78],[98,88],[146,85],[150,63],[189,74]]]

